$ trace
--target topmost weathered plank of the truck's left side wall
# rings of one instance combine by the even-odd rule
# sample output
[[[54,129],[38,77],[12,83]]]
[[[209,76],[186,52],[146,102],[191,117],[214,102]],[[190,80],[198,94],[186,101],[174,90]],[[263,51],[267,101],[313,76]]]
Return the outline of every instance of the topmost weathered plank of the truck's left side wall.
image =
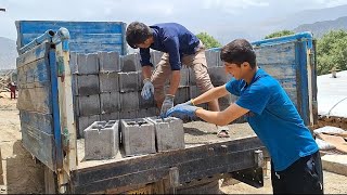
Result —
[[[42,43],[37,47],[35,47],[33,50],[29,50],[25,52],[24,54],[20,55],[16,60],[17,68],[22,67],[28,63],[31,63],[34,61],[37,61],[39,58],[47,57],[48,55],[48,50],[49,50],[50,44]]]

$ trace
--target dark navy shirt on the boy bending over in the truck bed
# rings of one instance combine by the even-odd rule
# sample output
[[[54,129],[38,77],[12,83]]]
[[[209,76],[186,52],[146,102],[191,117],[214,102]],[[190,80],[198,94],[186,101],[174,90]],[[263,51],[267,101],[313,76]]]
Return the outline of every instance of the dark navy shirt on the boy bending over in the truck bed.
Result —
[[[194,54],[198,47],[198,38],[184,26],[176,23],[162,23],[150,26],[153,30],[154,42],[151,49],[169,54],[169,63],[172,70],[181,69],[183,54]],[[141,65],[153,66],[150,62],[150,48],[140,49]]]

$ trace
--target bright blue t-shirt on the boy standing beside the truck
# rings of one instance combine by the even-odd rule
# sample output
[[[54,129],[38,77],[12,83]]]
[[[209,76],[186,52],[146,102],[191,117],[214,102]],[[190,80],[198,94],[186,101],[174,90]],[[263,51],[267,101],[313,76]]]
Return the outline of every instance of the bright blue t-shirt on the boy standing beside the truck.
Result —
[[[247,121],[268,148],[275,171],[319,150],[288,95],[265,70],[258,69],[250,84],[232,79],[226,88],[240,96],[239,106],[249,109]]]

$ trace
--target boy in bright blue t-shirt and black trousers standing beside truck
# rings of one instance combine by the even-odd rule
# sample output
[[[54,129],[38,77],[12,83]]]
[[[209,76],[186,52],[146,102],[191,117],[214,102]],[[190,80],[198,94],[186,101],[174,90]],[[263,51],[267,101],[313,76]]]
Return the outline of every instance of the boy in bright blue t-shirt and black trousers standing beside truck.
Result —
[[[221,49],[226,72],[234,78],[167,112],[167,116],[197,116],[226,126],[246,115],[253,130],[271,156],[274,194],[323,193],[323,173],[319,148],[280,83],[256,65],[252,44],[236,39]],[[240,99],[222,112],[196,107],[232,93]]]

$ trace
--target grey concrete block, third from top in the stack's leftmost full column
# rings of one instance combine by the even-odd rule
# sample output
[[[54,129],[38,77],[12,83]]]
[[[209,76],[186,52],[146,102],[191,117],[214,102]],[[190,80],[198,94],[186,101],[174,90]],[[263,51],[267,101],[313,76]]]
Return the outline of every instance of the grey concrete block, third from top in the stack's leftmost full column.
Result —
[[[100,114],[100,95],[78,96],[79,116]]]

